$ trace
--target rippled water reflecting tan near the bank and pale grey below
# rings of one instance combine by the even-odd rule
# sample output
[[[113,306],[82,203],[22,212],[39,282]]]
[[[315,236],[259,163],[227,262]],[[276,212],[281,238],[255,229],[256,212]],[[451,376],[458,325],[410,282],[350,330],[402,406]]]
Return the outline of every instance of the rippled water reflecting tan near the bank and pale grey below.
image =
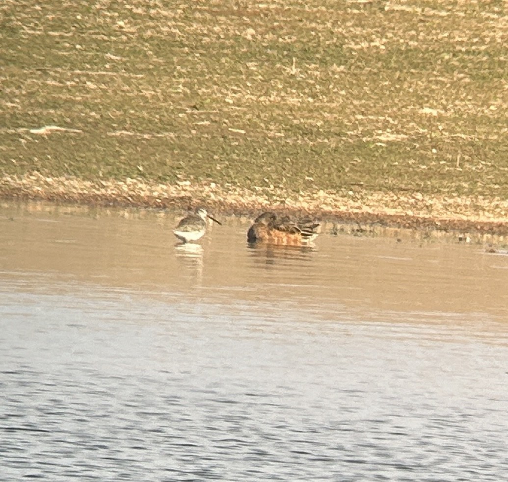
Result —
[[[508,256],[1,206],[2,480],[508,479]]]

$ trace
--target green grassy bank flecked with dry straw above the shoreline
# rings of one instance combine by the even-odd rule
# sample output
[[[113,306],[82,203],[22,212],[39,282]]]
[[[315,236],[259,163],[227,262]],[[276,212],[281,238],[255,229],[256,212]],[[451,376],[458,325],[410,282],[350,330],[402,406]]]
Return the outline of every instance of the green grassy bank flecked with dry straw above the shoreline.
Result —
[[[500,1],[17,0],[0,37],[4,184],[508,198]]]

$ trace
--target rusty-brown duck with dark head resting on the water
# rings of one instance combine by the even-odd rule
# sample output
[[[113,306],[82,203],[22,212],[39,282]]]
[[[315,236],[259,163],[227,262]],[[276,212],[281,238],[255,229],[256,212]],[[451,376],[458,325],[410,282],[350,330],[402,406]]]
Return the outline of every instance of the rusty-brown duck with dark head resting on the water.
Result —
[[[298,221],[289,216],[278,217],[274,212],[260,214],[247,231],[249,243],[302,246],[317,236],[319,223],[309,218]]]

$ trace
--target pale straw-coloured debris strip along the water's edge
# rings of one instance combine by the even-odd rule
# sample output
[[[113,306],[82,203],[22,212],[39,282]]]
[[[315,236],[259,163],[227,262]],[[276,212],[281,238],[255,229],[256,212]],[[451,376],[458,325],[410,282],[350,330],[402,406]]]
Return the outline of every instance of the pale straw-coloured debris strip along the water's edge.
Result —
[[[251,214],[275,209],[308,213],[340,222],[382,223],[409,229],[508,234],[508,200],[487,197],[426,197],[421,193],[333,191],[288,193],[283,189],[218,186],[179,181],[175,185],[141,179],[124,181],[45,177],[38,172],[0,176],[0,197],[101,206],[187,209],[198,204],[225,214]]]

